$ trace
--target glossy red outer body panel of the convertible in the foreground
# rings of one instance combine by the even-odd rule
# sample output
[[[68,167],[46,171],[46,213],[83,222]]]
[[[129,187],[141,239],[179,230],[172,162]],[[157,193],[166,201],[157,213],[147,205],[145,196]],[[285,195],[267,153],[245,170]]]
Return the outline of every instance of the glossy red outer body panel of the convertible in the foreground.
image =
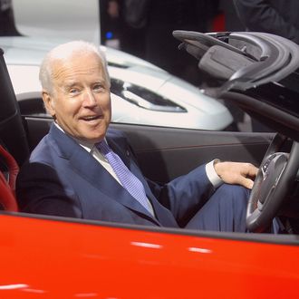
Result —
[[[5,214],[0,231],[4,299],[298,297],[297,246]]]

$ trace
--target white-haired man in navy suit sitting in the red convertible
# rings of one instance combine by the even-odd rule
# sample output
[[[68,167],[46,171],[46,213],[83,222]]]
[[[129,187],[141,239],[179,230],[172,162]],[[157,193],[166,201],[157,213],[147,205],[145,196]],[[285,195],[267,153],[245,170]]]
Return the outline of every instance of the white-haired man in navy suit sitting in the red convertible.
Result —
[[[18,176],[22,211],[246,231],[248,188],[253,184],[248,177],[256,176],[256,167],[215,160],[165,186],[144,178],[123,134],[108,130],[110,78],[97,47],[75,41],[54,48],[43,60],[40,80],[54,122]]]

